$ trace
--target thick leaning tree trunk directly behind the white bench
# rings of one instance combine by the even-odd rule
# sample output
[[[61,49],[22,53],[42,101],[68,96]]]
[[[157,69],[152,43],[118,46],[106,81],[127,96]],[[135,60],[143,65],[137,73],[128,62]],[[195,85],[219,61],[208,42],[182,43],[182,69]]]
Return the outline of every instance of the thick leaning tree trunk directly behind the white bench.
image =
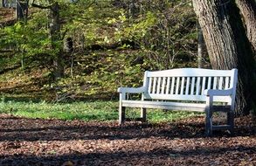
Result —
[[[239,69],[236,114],[253,107],[254,60],[252,47],[235,1],[193,0],[204,42],[214,69]]]

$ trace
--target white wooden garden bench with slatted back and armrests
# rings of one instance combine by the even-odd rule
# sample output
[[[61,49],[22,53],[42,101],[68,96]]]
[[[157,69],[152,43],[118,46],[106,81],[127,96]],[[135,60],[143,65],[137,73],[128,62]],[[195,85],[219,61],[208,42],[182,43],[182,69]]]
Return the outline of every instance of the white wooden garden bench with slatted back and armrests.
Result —
[[[212,135],[212,130],[218,129],[232,132],[237,81],[237,69],[180,68],[146,71],[143,86],[118,88],[119,124],[128,121],[125,107],[140,107],[140,121],[146,121],[146,108],[161,108],[205,112],[206,135]],[[129,93],[142,93],[142,100],[129,100]],[[226,125],[212,125],[213,112],[226,112]]]

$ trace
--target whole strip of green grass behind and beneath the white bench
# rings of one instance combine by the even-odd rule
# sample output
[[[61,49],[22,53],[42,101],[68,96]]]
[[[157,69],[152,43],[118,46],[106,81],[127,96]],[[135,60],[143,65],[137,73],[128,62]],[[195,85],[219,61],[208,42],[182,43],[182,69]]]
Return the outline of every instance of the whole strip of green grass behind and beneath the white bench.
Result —
[[[0,113],[14,114],[28,118],[83,120],[83,121],[116,121],[118,120],[117,101],[93,101],[73,103],[18,102],[0,101]],[[139,109],[127,109],[130,118],[139,117]],[[175,121],[198,115],[191,112],[163,111],[150,109],[150,122]]]

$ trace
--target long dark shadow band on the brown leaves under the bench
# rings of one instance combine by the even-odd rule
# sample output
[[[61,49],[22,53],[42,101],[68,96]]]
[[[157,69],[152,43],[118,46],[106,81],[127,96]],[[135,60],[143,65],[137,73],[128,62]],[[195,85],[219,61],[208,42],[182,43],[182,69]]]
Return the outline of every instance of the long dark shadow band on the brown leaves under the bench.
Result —
[[[248,119],[248,118],[247,118]],[[59,121],[0,117],[0,141],[68,141],[68,140],[119,140],[142,139],[151,136],[173,138],[204,137],[204,118],[194,117],[171,123],[151,124],[127,122],[119,126],[117,121]],[[243,124],[244,123],[244,124]],[[251,120],[237,120],[234,135],[215,131],[214,136],[256,135]]]

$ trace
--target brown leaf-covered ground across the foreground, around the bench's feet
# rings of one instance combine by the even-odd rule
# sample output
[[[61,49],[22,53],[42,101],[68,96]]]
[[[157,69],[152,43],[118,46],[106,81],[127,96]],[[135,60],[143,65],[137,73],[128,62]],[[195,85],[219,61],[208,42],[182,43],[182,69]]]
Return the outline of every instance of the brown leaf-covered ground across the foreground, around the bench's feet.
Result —
[[[0,115],[0,165],[256,165],[255,120],[204,136],[204,117],[161,124]]]

